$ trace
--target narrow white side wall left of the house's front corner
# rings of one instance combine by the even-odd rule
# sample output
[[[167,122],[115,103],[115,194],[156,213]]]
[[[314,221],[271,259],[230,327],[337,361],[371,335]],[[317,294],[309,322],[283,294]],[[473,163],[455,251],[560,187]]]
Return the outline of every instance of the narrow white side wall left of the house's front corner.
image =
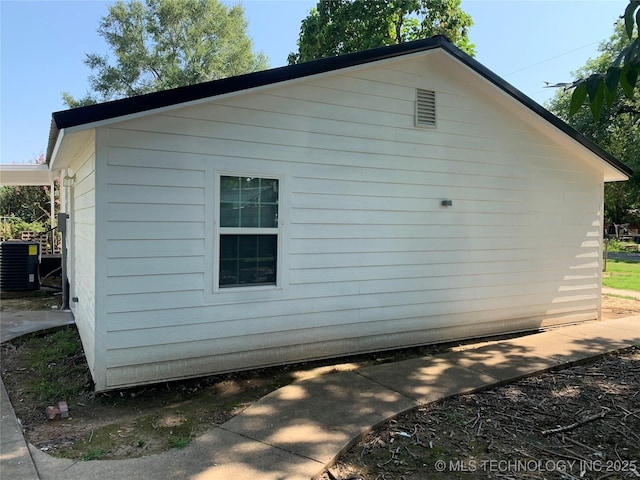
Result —
[[[76,325],[82,337],[87,362],[92,373],[96,374],[95,349],[95,244],[96,244],[96,194],[95,194],[95,137],[88,140],[78,155],[71,161],[68,176],[75,177],[65,195],[71,203],[66,211],[71,212],[68,222],[69,283],[70,298],[78,302],[69,302]]]

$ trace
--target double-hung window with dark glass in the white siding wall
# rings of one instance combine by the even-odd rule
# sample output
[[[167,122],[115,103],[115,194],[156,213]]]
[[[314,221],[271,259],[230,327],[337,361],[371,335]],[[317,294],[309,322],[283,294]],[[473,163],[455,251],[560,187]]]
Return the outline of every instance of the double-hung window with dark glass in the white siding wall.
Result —
[[[219,287],[275,285],[278,180],[220,177]]]

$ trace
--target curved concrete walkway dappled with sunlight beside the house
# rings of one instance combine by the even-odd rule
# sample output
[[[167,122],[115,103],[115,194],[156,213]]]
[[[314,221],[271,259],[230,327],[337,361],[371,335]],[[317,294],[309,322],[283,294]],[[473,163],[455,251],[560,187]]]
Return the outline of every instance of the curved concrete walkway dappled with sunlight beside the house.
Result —
[[[389,417],[426,402],[636,344],[640,344],[640,316],[559,327],[433,356],[338,371],[270,393],[185,449],[130,460],[75,462],[53,458],[32,445],[25,452],[2,386],[2,477],[308,480],[364,431]]]

